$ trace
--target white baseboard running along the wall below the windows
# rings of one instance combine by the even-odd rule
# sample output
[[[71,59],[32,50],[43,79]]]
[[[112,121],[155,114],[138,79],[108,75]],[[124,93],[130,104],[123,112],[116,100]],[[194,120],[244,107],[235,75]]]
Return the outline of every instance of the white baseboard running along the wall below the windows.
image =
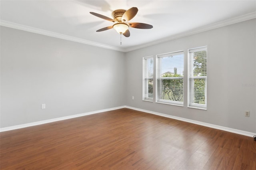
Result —
[[[213,125],[213,124],[210,124],[210,123],[204,123],[204,122],[200,122],[200,121],[194,121],[194,120],[191,120],[191,119],[185,119],[185,118],[182,118],[182,117],[176,117],[176,116],[166,115],[166,114],[163,114],[163,113],[148,111],[148,110],[144,110],[144,109],[138,109],[138,108],[130,107],[130,106],[124,106],[124,107],[125,107],[125,108],[128,108],[128,109],[133,109],[133,110],[136,110],[136,111],[142,111],[142,112],[145,112],[145,113],[150,113],[150,114],[153,114],[153,115],[158,115],[158,116],[162,116],[162,117],[168,117],[168,118],[171,118],[171,119],[176,119],[176,120],[179,120],[179,121],[184,121],[184,122],[188,122],[188,123],[194,123],[194,124],[196,124],[196,125],[202,125],[202,126],[204,126],[204,127],[210,127],[210,128],[215,128],[215,129],[219,129],[219,130],[224,130],[224,131],[232,132],[232,133],[236,133],[236,134],[242,134],[242,135],[244,135],[244,136],[253,137],[253,136],[255,135],[255,134],[252,133],[252,132],[247,132],[247,131],[238,130],[238,129],[234,129],[234,128],[222,127],[222,126]]]

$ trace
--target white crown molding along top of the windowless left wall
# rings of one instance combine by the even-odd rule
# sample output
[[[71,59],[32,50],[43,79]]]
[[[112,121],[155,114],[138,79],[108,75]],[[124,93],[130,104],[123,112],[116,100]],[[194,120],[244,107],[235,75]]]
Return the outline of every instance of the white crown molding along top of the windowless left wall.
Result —
[[[122,48],[118,48],[118,47],[114,47],[114,46],[106,45],[106,44],[102,44],[102,43],[92,42],[92,41],[89,41],[89,40],[84,40],[82,38],[67,36],[67,35],[64,35],[64,34],[56,33],[56,32],[50,32],[50,31],[46,31],[46,30],[42,30],[42,29],[30,27],[30,26],[24,26],[24,25],[21,25],[21,24],[16,24],[14,22],[8,22],[8,21],[0,20],[0,25],[5,26],[5,27],[9,27],[9,28],[18,29],[18,30],[27,31],[27,32],[33,32],[33,33],[36,33],[36,34],[42,34],[44,36],[50,36],[50,37],[54,37],[54,38],[60,38],[60,39],[63,39],[63,40],[69,40],[69,41],[73,41],[73,42],[84,43],[84,44],[87,44],[87,45],[93,45],[93,46],[97,46],[97,47],[102,47],[102,48],[106,48],[106,49],[112,49],[112,50],[124,52],[124,49],[122,49]]]

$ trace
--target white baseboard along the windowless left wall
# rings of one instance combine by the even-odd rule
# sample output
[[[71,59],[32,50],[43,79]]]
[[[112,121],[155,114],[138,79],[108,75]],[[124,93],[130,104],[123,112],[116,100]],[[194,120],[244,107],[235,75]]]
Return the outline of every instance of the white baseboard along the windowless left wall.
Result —
[[[8,131],[8,130],[15,130],[15,129],[19,129],[19,128],[25,128],[25,127],[32,127],[32,126],[42,125],[42,124],[45,124],[45,123],[52,123],[52,122],[56,122],[56,121],[63,121],[63,120],[66,120],[66,119],[72,119],[72,118],[76,118],[76,117],[92,115],[92,114],[96,114],[96,113],[102,113],[102,112],[112,111],[112,110],[122,109],[122,108],[124,108],[124,106],[113,107],[113,108],[110,108],[110,109],[103,109],[103,110],[92,111],[92,112],[87,112],[87,113],[81,113],[81,114],[77,114],[77,115],[59,117],[59,118],[55,118],[55,119],[48,119],[48,120],[44,120],[44,121],[26,123],[26,124],[22,124],[22,125],[11,126],[11,127],[4,127],[4,128],[0,128],[0,132],[4,132],[4,131]]]

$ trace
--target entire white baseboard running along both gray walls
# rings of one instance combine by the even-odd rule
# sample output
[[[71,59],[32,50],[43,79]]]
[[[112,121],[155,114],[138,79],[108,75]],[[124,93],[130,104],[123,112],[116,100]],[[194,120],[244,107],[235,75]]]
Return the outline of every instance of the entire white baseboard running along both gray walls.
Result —
[[[162,117],[176,119],[176,120],[184,121],[184,122],[188,122],[188,123],[194,123],[196,125],[202,125],[202,126],[205,126],[205,127],[224,130],[224,131],[232,132],[232,133],[236,133],[236,134],[242,134],[242,135],[245,135],[245,136],[252,137],[252,136],[255,135],[252,132],[247,132],[247,131],[238,130],[238,129],[234,129],[234,128],[222,127],[222,126],[213,125],[213,124],[210,124],[210,123],[194,121],[194,120],[191,120],[191,119],[185,119],[185,118],[182,118],[182,117],[166,115],[166,114],[163,114],[163,113],[148,111],[148,110],[144,110],[144,109],[138,109],[138,108],[130,107],[130,106],[113,107],[113,108],[110,108],[110,109],[103,109],[103,110],[92,111],[92,112],[88,112],[88,113],[81,113],[81,114],[77,114],[77,115],[59,117],[59,118],[56,118],[56,119],[49,119],[49,120],[45,120],[45,121],[38,121],[38,122],[26,123],[26,124],[23,124],[23,125],[5,127],[5,128],[0,128],[0,132],[4,132],[4,131],[8,131],[8,130],[15,130],[15,129],[19,129],[19,128],[25,128],[25,127],[32,127],[32,126],[36,126],[36,125],[42,125],[42,124],[45,124],[45,123],[52,123],[52,122],[56,122],[56,121],[62,121],[62,120],[66,120],[66,119],[72,119],[72,118],[76,118],[76,117],[82,117],[82,116],[86,116],[86,115],[92,115],[92,114],[96,114],[96,113],[102,113],[102,112],[112,111],[112,110],[122,109],[122,108],[128,108],[128,109],[133,109],[133,110],[136,110],[136,111],[142,111],[142,112],[145,112],[145,113],[150,113],[150,114],[154,114],[154,115],[158,115],[158,116],[162,116]]]

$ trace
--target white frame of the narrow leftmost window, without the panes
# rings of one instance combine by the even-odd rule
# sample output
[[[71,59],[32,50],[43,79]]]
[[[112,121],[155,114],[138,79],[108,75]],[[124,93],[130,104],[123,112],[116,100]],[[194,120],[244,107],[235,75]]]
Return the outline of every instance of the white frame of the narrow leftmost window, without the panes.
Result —
[[[150,77],[148,75],[148,65],[146,63],[146,61],[148,59],[153,60],[153,74],[152,74],[152,77]],[[152,79],[152,82],[153,82],[153,87],[152,88],[154,88],[154,57],[153,56],[143,57],[143,62],[142,63],[143,63],[142,100],[153,102],[154,89],[152,89],[152,97],[149,97],[149,95],[148,95],[148,80]]]

